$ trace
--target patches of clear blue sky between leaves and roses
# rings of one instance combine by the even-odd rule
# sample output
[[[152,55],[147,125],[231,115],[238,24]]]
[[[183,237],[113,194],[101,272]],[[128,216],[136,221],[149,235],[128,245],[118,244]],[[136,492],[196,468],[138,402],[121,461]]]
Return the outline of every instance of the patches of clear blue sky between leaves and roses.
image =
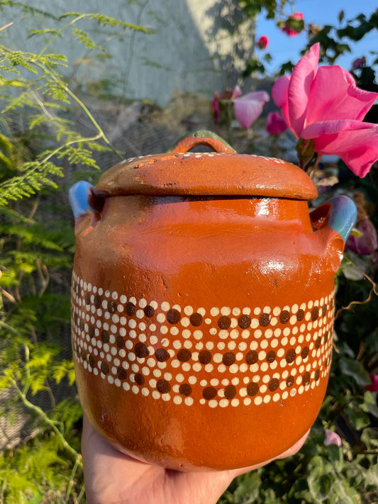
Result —
[[[343,9],[345,19],[351,19],[360,13],[365,14],[367,18],[378,7],[377,0],[296,0],[295,10],[304,13],[305,23],[313,23],[315,25],[337,26],[338,13]],[[289,13],[289,9],[288,9]],[[279,69],[283,62],[291,60],[297,62],[300,57],[300,51],[306,47],[307,37],[302,33],[296,37],[288,37],[276,28],[272,21],[260,16],[257,20],[257,38],[260,35],[268,35],[269,47],[268,51],[272,55],[273,60],[270,65],[265,65],[269,73],[274,73]],[[345,40],[349,43],[349,40]],[[377,55],[369,55],[369,51],[378,52],[378,31],[374,30],[368,35],[365,35],[359,43],[350,43],[352,53],[340,57],[336,64],[341,65],[347,70],[350,70],[351,63],[356,57],[365,55],[367,63],[371,63]],[[259,55],[263,53],[259,51]]]

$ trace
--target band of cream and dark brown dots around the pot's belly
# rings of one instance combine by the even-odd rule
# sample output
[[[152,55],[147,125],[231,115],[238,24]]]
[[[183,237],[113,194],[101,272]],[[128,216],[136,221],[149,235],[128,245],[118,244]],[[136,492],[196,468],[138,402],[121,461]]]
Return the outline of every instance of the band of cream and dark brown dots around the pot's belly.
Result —
[[[263,405],[311,391],[328,376],[333,315],[333,293],[282,307],[172,306],[73,274],[77,364],[177,405]]]

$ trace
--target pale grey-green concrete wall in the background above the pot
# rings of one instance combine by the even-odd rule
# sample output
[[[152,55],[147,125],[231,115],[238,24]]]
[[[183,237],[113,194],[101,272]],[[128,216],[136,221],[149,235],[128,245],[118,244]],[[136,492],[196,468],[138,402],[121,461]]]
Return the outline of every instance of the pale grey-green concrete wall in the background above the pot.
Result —
[[[113,54],[112,60],[98,62],[93,53],[70,38],[58,38],[49,50],[69,57],[67,73],[72,84],[108,79],[126,99],[150,99],[165,105],[173,94],[192,92],[213,95],[223,86],[235,85],[243,70],[242,60],[252,55],[255,25],[240,24],[230,35],[222,26],[240,21],[234,0],[29,0],[29,6],[58,16],[69,11],[96,12],[150,28],[153,33],[128,32],[118,40],[118,29],[78,23],[90,30],[97,43]],[[13,22],[2,33],[11,47],[36,51],[43,40],[25,40],[30,28],[55,27],[44,16],[5,8],[1,26]],[[241,55],[241,59],[240,59]]]

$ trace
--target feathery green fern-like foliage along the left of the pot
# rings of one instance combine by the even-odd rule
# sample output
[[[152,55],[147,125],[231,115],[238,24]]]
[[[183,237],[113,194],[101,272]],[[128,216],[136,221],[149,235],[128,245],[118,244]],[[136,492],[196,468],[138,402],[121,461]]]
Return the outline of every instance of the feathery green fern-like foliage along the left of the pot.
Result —
[[[67,32],[88,55],[107,53],[79,23],[117,30],[145,28],[96,13],[56,18],[22,4],[1,9],[45,16],[54,27],[31,30],[45,44],[35,54],[0,45],[0,415],[26,420],[30,436],[0,454],[0,502],[79,503],[84,500],[79,434],[82,408],[70,357],[71,212],[57,201],[65,167],[98,169],[94,154],[111,150],[87,106],[67,84],[67,57],[50,52]],[[110,55],[109,55],[110,57]],[[83,135],[67,117],[91,124]],[[22,116],[24,128],[13,118]],[[65,399],[58,401],[62,396]],[[10,397],[3,401],[3,396]]]

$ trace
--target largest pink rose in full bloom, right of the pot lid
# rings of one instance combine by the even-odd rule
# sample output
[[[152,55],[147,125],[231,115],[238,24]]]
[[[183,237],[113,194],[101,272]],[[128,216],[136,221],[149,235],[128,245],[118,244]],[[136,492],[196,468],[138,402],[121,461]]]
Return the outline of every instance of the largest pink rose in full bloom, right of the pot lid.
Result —
[[[274,103],[296,138],[313,140],[320,155],[338,155],[359,177],[378,159],[378,125],[364,123],[378,93],[357,88],[338,65],[318,68],[319,44],[272,88]]]

